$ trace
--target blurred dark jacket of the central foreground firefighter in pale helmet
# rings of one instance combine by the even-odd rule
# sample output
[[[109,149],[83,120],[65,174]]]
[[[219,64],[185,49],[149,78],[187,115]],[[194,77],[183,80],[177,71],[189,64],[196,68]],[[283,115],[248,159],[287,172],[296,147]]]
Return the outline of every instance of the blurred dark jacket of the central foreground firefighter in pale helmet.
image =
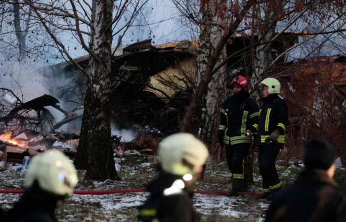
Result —
[[[139,207],[140,222],[199,222],[192,206],[192,193],[174,187],[181,176],[160,172],[147,187],[149,198]]]

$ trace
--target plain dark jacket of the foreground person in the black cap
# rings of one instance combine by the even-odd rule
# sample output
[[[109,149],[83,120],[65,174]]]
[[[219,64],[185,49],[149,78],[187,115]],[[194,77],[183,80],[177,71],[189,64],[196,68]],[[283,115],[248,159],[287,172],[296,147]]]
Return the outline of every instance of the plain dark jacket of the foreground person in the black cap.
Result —
[[[346,222],[346,197],[325,170],[305,170],[277,193],[265,222]]]

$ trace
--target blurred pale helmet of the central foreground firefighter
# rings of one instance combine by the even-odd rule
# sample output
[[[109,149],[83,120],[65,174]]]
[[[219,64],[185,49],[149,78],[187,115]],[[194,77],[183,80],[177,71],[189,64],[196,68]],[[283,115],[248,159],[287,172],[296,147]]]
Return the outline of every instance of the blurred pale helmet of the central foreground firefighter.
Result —
[[[176,133],[159,144],[158,161],[164,171],[183,176],[198,173],[208,155],[206,146],[192,134]]]

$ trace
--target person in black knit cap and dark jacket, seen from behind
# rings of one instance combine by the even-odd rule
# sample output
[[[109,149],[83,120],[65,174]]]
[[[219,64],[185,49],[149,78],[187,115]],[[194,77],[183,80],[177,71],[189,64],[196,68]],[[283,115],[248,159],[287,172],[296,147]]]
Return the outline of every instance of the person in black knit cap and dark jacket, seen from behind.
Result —
[[[265,222],[346,222],[346,196],[333,180],[335,149],[324,139],[305,145],[305,169],[270,203]]]

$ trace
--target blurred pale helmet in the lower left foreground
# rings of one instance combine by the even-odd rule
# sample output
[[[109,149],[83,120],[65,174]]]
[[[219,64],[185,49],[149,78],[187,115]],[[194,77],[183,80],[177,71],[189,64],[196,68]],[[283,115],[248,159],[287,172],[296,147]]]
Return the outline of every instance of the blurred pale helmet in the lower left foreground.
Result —
[[[59,150],[47,150],[30,161],[25,186],[29,187],[35,181],[43,190],[66,195],[73,192],[78,179],[75,166],[64,153]]]

